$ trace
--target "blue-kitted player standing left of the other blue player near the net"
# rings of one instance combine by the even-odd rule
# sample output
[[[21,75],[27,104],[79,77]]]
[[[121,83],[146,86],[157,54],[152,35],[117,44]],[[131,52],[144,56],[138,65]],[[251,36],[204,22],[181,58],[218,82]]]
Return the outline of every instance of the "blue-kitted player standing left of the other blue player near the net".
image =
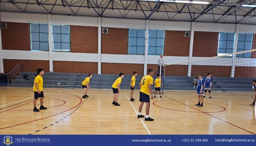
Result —
[[[195,104],[195,106],[198,106],[198,107],[203,107],[203,103],[204,103],[204,79],[202,78],[203,77],[203,74],[199,74],[199,80],[198,80],[198,84],[197,84],[197,95],[198,95],[198,103]],[[200,101],[201,101],[201,104],[200,104]]]

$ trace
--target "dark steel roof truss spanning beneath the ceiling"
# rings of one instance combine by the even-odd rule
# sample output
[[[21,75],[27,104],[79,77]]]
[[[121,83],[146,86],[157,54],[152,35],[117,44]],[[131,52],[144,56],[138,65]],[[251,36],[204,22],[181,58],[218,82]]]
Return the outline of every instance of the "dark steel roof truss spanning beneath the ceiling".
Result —
[[[195,5],[191,3],[185,3],[183,4],[183,6],[177,3],[166,3],[162,1],[152,2],[142,0],[1,0],[0,4],[3,3],[10,3],[18,9],[18,11],[16,9],[15,11],[11,10],[8,12],[29,12],[26,11],[27,6],[37,4],[43,7],[46,12],[38,11],[34,13],[56,14],[52,12],[54,7],[62,6],[64,8],[67,7],[71,11],[71,13],[65,11],[65,15],[78,15],[80,8],[93,8],[96,13],[96,15],[93,16],[112,17],[108,15],[103,15],[107,9],[112,9],[118,10],[121,15],[120,17],[115,16],[115,18],[131,18],[128,16],[129,12],[141,11],[144,16],[136,19],[155,19],[151,18],[152,15],[158,12],[165,12],[167,14],[168,20],[176,20],[179,14],[189,14],[190,20],[187,21],[191,22],[202,22],[202,20],[198,19],[206,14],[212,15],[214,22],[219,22],[220,20],[223,20],[228,16],[234,16],[236,19],[234,23],[241,23],[246,19],[256,16],[256,8],[249,9],[242,7],[242,4],[255,4],[255,0],[240,0],[237,1],[237,3],[232,3],[231,0],[214,0],[212,2],[210,1],[210,4],[208,5]],[[25,8],[24,4],[26,4]],[[21,5],[23,5],[23,7]],[[223,7],[225,7],[226,9],[223,9]],[[184,11],[184,9],[186,9],[186,11]],[[193,9],[193,11],[191,11],[191,9]],[[243,18],[240,20],[237,20],[238,12],[240,16],[243,16]],[[86,14],[79,14],[79,16],[81,15],[92,16]]]

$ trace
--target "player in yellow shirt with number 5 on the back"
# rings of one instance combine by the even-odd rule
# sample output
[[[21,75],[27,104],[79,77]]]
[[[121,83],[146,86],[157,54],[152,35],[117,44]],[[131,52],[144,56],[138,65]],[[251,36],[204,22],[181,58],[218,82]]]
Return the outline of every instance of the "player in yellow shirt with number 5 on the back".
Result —
[[[149,114],[149,108],[150,108],[150,97],[151,99],[154,99],[152,94],[151,85],[153,85],[153,69],[148,69],[147,75],[142,77],[140,81],[140,106],[139,106],[139,115],[138,118],[143,118],[144,116],[141,114],[143,104],[146,103],[146,118],[145,121],[153,121],[154,119],[151,119]],[[150,95],[150,97],[149,97]]]

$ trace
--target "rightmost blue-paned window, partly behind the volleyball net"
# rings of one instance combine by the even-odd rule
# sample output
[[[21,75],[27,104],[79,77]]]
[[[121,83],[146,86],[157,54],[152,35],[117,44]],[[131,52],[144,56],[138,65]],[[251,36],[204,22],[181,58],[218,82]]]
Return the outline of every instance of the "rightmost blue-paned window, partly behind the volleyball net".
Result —
[[[238,34],[237,52],[252,50],[252,36],[253,34],[245,34],[245,33]],[[248,52],[248,53],[237,54],[236,57],[250,58],[251,53]]]

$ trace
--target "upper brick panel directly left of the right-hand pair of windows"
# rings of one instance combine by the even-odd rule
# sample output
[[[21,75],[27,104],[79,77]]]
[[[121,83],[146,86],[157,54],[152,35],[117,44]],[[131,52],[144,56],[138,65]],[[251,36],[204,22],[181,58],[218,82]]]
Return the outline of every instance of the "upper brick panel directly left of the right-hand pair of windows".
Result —
[[[214,57],[218,53],[218,32],[194,32],[193,57]]]

